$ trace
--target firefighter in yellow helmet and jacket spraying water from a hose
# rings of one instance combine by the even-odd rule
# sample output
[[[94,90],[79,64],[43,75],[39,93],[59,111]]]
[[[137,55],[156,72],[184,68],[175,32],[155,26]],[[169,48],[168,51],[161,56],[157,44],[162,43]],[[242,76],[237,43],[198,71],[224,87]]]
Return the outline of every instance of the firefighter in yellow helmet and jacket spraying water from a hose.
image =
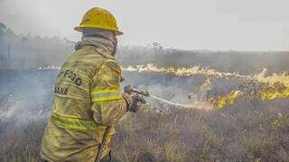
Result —
[[[109,144],[114,125],[141,106],[122,94],[121,69],[115,58],[118,30],[113,14],[94,7],[74,28],[82,32],[75,51],[61,66],[54,87],[51,117],[42,137],[44,161],[121,161]]]

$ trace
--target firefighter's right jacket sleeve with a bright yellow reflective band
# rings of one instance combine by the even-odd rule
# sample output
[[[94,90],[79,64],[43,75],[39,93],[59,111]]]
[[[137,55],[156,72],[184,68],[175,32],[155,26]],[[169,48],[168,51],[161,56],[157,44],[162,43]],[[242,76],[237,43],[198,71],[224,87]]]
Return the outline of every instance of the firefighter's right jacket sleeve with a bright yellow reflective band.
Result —
[[[90,97],[94,120],[114,125],[126,113],[126,101],[120,89],[121,70],[116,60],[107,60],[93,77]]]

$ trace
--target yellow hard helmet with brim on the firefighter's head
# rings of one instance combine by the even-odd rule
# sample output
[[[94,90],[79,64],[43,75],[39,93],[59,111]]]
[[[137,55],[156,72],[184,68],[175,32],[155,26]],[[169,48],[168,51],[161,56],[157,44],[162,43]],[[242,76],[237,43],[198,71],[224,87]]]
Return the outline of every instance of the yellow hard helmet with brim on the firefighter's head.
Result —
[[[117,21],[113,14],[99,7],[91,8],[83,15],[81,23],[75,27],[75,31],[82,31],[83,28],[98,28],[115,31],[116,35],[122,35],[123,32],[118,30]]]

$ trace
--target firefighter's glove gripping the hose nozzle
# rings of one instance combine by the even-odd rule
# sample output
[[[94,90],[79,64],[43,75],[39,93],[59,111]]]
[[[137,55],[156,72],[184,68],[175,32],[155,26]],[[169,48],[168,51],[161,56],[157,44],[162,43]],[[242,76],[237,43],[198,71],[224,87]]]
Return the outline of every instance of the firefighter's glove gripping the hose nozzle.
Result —
[[[126,112],[137,112],[146,103],[139,94],[123,94],[126,100]]]

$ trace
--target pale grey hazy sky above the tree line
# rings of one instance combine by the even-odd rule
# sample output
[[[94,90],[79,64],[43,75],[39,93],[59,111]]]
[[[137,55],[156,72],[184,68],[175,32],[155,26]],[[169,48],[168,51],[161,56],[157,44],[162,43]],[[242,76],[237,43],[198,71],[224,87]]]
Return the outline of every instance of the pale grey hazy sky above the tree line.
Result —
[[[17,33],[79,40],[72,29],[93,6],[117,16],[123,45],[289,50],[288,0],[0,0],[0,22]]]

